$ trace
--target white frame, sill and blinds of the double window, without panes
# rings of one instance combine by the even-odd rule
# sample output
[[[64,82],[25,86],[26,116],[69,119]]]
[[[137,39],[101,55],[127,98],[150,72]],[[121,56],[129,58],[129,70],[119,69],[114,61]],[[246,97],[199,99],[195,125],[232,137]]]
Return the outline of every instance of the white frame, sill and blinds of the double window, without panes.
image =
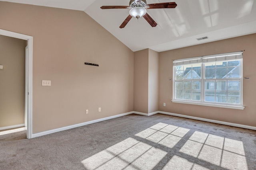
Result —
[[[215,62],[215,61],[234,61],[240,60],[240,78],[225,78],[225,79],[206,79],[205,76],[205,63]],[[175,99],[176,96],[176,69],[175,67],[178,65],[185,65],[185,64],[195,64],[201,63],[201,98],[200,101],[196,100],[184,100],[184,99]],[[194,79],[188,79],[194,80]],[[197,80],[197,79],[196,79]],[[239,80],[240,81],[240,104],[227,104],[227,103],[219,103],[219,102],[204,102],[205,98],[205,81],[208,80]],[[184,81],[184,79],[182,79]],[[216,88],[215,88],[216,91]],[[223,107],[223,108],[231,108],[231,109],[244,109],[243,106],[243,52],[233,52],[233,53],[224,53],[218,55],[209,55],[209,56],[202,56],[202,57],[193,57],[188,59],[179,59],[173,61],[173,99],[172,102],[174,103],[182,103],[182,104],[194,104],[194,105],[201,105],[201,106],[213,106],[213,107]]]

